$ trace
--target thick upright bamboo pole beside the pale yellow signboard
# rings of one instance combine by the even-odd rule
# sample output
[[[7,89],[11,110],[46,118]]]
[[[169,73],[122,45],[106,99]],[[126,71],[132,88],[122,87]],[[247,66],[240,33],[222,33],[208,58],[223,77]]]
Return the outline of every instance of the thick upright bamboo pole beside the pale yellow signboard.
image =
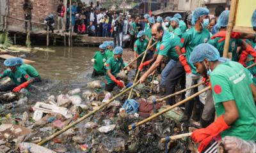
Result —
[[[223,50],[223,57],[228,57],[228,48],[229,48],[229,42],[230,42],[230,36],[232,33],[233,25],[234,25],[234,19],[236,15],[236,4],[237,0],[232,0],[231,1],[231,6],[230,6],[230,14],[228,17],[228,27],[227,27],[227,34],[225,38],[225,45],[224,45],[224,50]]]

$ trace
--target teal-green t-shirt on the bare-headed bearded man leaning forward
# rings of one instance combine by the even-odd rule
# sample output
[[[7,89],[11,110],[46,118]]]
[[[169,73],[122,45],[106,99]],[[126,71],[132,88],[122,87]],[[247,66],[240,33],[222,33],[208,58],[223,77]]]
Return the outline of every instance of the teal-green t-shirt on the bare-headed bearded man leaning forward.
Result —
[[[156,54],[170,57],[170,59],[173,59],[174,61],[179,61],[179,56],[175,49],[176,46],[182,46],[180,38],[173,33],[164,31],[162,41],[158,41],[157,43]]]

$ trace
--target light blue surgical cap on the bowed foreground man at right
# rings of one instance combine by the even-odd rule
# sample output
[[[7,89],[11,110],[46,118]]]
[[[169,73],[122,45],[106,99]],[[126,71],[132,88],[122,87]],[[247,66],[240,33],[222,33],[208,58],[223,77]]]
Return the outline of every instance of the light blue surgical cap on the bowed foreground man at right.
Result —
[[[202,62],[204,59],[208,61],[217,61],[220,59],[219,51],[209,43],[201,43],[197,45],[190,54],[189,62]]]

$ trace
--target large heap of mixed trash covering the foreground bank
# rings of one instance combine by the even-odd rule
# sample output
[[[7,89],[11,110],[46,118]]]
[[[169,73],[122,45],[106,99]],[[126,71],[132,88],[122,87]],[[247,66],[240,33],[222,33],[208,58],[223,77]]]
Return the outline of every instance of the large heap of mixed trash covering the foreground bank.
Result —
[[[24,94],[2,94],[0,100],[5,103],[8,100],[8,103],[0,108],[0,152],[164,152],[166,149],[186,152],[193,149],[188,147],[191,145],[189,138],[168,144],[160,142],[165,136],[190,131],[180,122],[183,112],[179,108],[129,131],[129,125],[165,107],[164,101],[153,105],[154,99],[159,98],[154,95],[159,94],[159,81],[154,80],[152,84],[138,85],[132,93],[134,99],[127,100],[129,92],[123,94],[43,146],[37,143],[99,109],[120,89],[104,92],[104,84],[96,80],[88,83],[86,91],[74,89],[36,103],[31,103]]]

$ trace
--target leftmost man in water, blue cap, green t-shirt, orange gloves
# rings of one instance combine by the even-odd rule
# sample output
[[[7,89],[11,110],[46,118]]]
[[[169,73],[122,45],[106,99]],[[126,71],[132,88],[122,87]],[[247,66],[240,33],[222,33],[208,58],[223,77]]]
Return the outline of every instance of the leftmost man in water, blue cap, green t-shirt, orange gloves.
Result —
[[[31,78],[24,69],[17,66],[18,62],[15,57],[6,59],[4,61],[4,65],[8,67],[8,69],[4,70],[3,73],[0,74],[0,79],[4,77],[9,77],[12,80],[12,84],[7,86],[1,86],[0,91],[13,91],[19,92],[21,89],[27,89],[30,91],[30,84],[33,82],[33,78]]]

